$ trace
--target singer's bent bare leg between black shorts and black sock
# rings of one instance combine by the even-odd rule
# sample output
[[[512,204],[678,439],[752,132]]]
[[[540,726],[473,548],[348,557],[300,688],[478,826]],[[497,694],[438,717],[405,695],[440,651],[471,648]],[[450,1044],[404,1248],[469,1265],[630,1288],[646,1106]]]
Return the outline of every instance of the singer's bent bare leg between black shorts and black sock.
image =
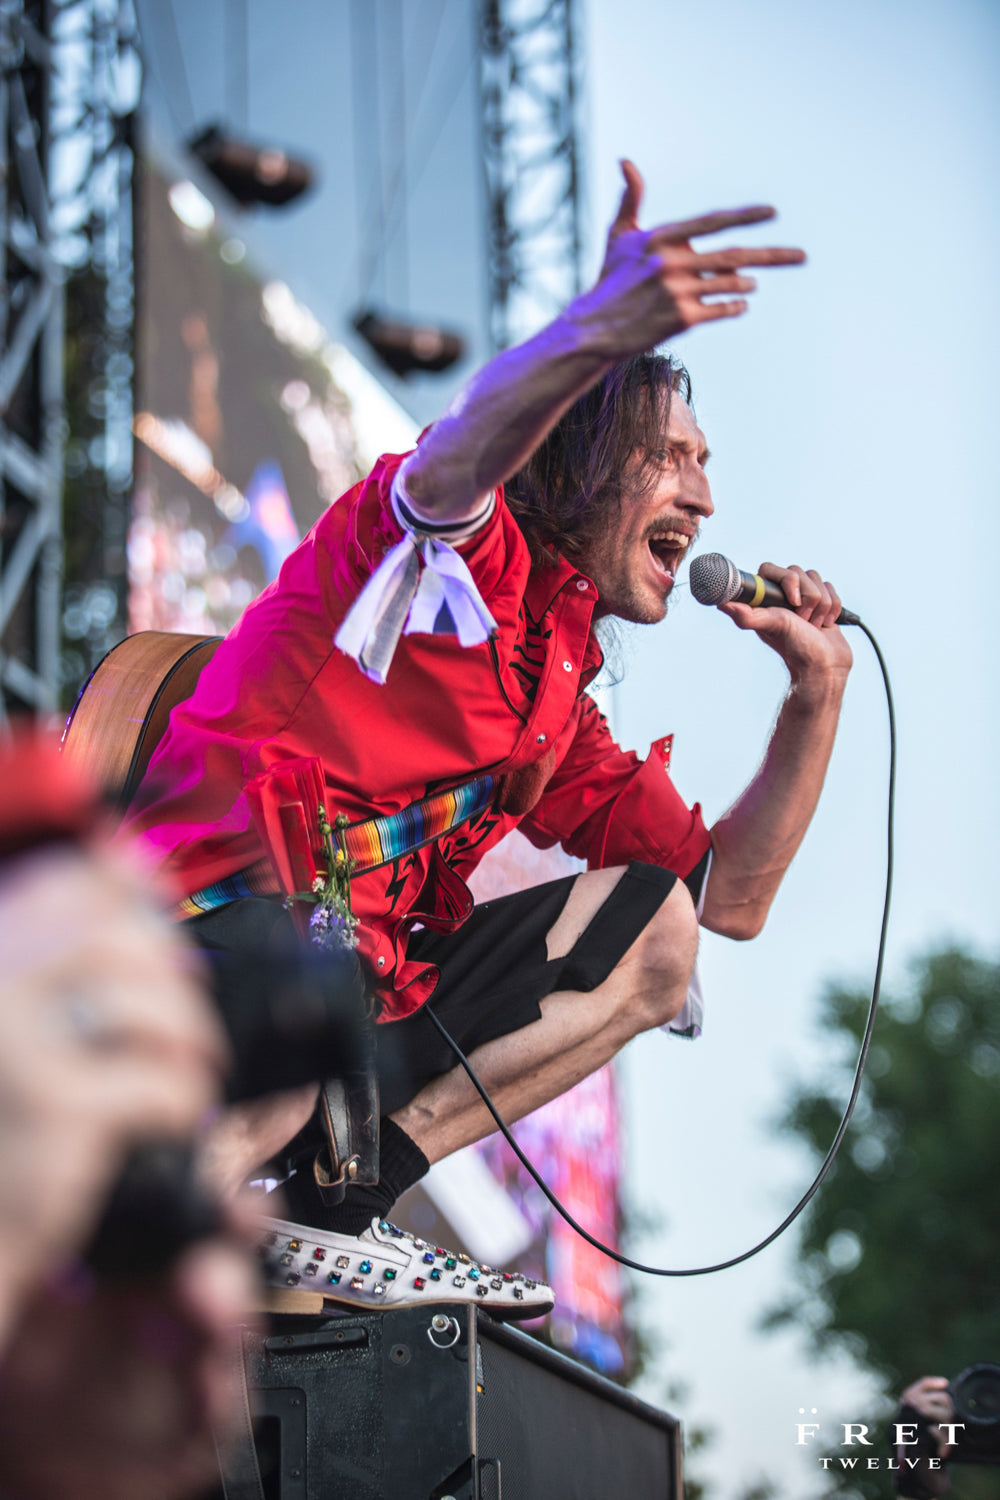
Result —
[[[577,876],[549,933],[550,958],[570,952],[622,874],[615,868]],[[678,880],[604,984],[589,993],[558,990],[546,996],[541,1020],[472,1053],[469,1062],[501,1116],[517,1120],[547,1104],[639,1032],[673,1020],[684,1005],[696,952],[694,906]],[[432,1162],[496,1128],[460,1066],[429,1083],[391,1119]]]

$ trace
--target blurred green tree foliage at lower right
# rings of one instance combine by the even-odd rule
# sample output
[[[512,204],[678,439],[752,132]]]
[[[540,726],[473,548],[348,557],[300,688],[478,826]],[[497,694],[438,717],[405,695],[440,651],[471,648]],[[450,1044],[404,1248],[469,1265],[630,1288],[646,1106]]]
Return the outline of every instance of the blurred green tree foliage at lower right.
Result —
[[[799,1088],[781,1120],[817,1158],[867,1011],[867,994],[828,992],[822,1026],[840,1065]],[[804,1222],[801,1286],[766,1324],[847,1348],[880,1377],[886,1413],[921,1376],[1000,1364],[999,1143],[1000,966],[957,948],[930,954],[909,992],[883,1000],[855,1120]],[[891,1492],[888,1474],[828,1479],[831,1494]],[[955,1466],[951,1492],[996,1500],[1000,1468]]]

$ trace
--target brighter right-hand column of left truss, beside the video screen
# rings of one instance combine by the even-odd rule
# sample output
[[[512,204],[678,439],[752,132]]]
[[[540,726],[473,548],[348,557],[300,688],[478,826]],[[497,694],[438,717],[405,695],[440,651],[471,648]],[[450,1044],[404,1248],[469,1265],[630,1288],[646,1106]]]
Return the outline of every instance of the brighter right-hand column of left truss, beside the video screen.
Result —
[[[126,630],[135,384],[132,0],[57,0],[54,219],[66,272],[63,687]]]

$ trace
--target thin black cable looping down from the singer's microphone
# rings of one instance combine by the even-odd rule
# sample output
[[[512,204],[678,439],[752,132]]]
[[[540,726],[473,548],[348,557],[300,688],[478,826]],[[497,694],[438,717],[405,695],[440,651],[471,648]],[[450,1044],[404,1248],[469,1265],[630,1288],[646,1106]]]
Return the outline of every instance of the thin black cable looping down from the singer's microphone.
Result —
[[[852,624],[853,622],[855,621],[852,621]],[[895,724],[895,708],[894,708],[894,704],[892,704],[892,687],[889,684],[889,670],[886,668],[885,657],[882,656],[882,651],[879,650],[879,642],[873,636],[873,633],[868,628],[868,626],[864,622],[864,620],[858,620],[856,626],[867,636],[867,639],[871,644],[871,650],[876,652],[876,658],[877,658],[879,668],[882,670],[882,681],[883,681],[885,688],[886,688],[886,705],[888,705],[888,710],[889,710],[889,807],[888,807],[888,819],[886,819],[886,894],[885,894],[885,902],[882,904],[882,927],[880,927],[880,932],[879,932],[879,957],[876,960],[876,976],[874,976],[874,984],[873,984],[873,990],[871,990],[871,1005],[868,1006],[868,1020],[865,1023],[865,1034],[862,1036],[861,1052],[858,1054],[858,1065],[855,1068],[855,1080],[853,1080],[853,1086],[852,1086],[852,1090],[850,1090],[850,1098],[847,1101],[847,1108],[844,1110],[843,1119],[841,1119],[841,1122],[840,1122],[840,1125],[837,1128],[837,1134],[834,1136],[832,1144],[831,1144],[829,1150],[826,1152],[826,1156],[823,1158],[820,1170],[816,1173],[816,1178],[813,1179],[813,1182],[807,1188],[807,1191],[802,1194],[802,1197],[799,1198],[799,1202],[781,1220],[781,1222],[778,1224],[777,1228],[774,1228],[768,1236],[765,1236],[765,1239],[762,1239],[751,1250],[745,1250],[742,1252],[742,1256],[733,1256],[733,1257],[730,1257],[730,1260],[720,1260],[715,1266],[690,1266],[690,1268],[687,1268],[684,1270],[670,1270],[670,1269],[667,1269],[664,1266],[646,1266],[640,1260],[631,1260],[630,1256],[622,1256],[621,1251],[612,1250],[610,1245],[603,1245],[601,1240],[595,1239],[594,1234],[591,1234],[588,1230],[585,1230],[582,1224],[577,1224],[577,1221],[573,1218],[573,1215],[568,1212],[568,1209],[565,1209],[562,1206],[562,1203],[559,1203],[558,1197],[555,1196],[555,1192],[552,1191],[552,1188],[549,1186],[549,1184],[543,1179],[541,1173],[537,1172],[537,1168],[531,1164],[531,1161],[528,1160],[528,1156],[525,1155],[525,1152],[520,1149],[520,1146],[514,1140],[510,1128],[501,1119],[496,1106],[493,1104],[492,1098],[489,1096],[489,1094],[483,1088],[481,1082],[475,1076],[475,1070],[472,1068],[472,1064],[465,1056],[465,1053],[459,1047],[457,1041],[454,1041],[454,1038],[441,1024],[441,1022],[435,1016],[432,1006],[429,1004],[424,1005],[424,1010],[430,1016],[430,1020],[438,1028],[438,1032],[441,1034],[441,1036],[444,1038],[444,1041],[448,1044],[448,1047],[451,1048],[451,1052],[456,1054],[456,1058],[459,1059],[459,1062],[465,1068],[466,1074],[469,1076],[469,1080],[472,1082],[472,1086],[475,1088],[477,1094],[483,1100],[483,1104],[486,1104],[487,1110],[493,1116],[493,1119],[496,1122],[496,1126],[498,1126],[499,1132],[502,1134],[504,1140],[507,1142],[507,1144],[510,1146],[510,1149],[514,1152],[514,1155],[517,1156],[517,1160],[520,1161],[522,1167],[529,1174],[529,1178],[532,1178],[534,1182],[538,1185],[538,1188],[544,1192],[546,1198],[553,1206],[553,1209],[556,1210],[556,1214],[559,1214],[559,1216],[565,1220],[565,1222],[570,1226],[570,1228],[576,1230],[576,1233],[582,1239],[585,1239],[588,1242],[588,1245],[592,1245],[594,1250],[600,1250],[601,1254],[607,1256],[610,1260],[616,1260],[619,1266],[628,1266],[630,1270],[642,1270],[648,1276],[708,1276],[708,1275],[711,1275],[715,1270],[729,1270],[732,1266],[739,1266],[739,1264],[742,1264],[744,1260],[750,1260],[753,1256],[760,1254],[760,1251],[766,1250],[768,1245],[772,1245],[774,1240],[778,1239],[780,1234],[784,1234],[786,1228],[789,1228],[789,1226],[796,1221],[796,1218],[799,1216],[799,1214],[802,1212],[802,1209],[807,1206],[807,1203],[816,1196],[816,1192],[819,1191],[820,1185],[823,1184],[826,1174],[829,1173],[831,1167],[834,1166],[834,1158],[837,1156],[837,1152],[840,1150],[841,1142],[843,1142],[844,1136],[847,1134],[847,1126],[850,1125],[852,1114],[855,1113],[855,1104],[858,1102],[858,1095],[861,1094],[861,1080],[864,1077],[865,1062],[868,1060],[868,1048],[871,1046],[871,1034],[873,1034],[874,1024],[876,1024],[876,1014],[879,1011],[879,994],[882,992],[882,969],[883,969],[885,957],[886,957],[886,934],[889,932],[889,903],[891,903],[891,898],[892,898],[894,824],[895,824],[895,788],[897,788],[897,724]]]

